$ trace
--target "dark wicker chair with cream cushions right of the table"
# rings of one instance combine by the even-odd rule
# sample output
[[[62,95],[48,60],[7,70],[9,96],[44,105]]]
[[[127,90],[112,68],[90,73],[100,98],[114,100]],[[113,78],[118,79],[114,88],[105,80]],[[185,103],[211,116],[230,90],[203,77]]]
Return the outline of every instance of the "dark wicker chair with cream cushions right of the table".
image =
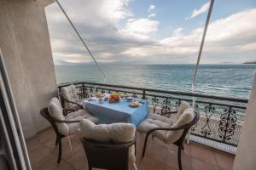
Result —
[[[146,133],[143,145],[143,157],[145,156],[148,137],[152,134],[166,144],[176,144],[178,146],[177,161],[179,169],[182,170],[181,150],[183,150],[183,141],[190,127],[198,122],[199,117],[199,113],[189,107],[187,102],[182,102],[177,110],[177,118],[175,120],[150,114],[137,128],[138,132]]]

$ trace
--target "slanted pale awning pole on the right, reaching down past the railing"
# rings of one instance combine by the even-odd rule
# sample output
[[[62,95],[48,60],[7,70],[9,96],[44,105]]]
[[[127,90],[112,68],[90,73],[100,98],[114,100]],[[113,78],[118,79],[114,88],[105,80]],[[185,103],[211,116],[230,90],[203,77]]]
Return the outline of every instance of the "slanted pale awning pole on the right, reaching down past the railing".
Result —
[[[194,90],[195,90],[196,74],[197,74],[197,71],[198,71],[198,66],[200,64],[201,52],[202,52],[202,49],[204,47],[204,43],[205,43],[205,39],[206,39],[206,35],[207,35],[207,28],[208,28],[208,25],[209,25],[209,22],[210,22],[211,14],[212,14],[213,4],[214,4],[214,0],[211,0],[210,7],[208,9],[205,29],[204,29],[204,32],[203,32],[203,36],[201,38],[201,46],[200,46],[200,49],[199,49],[199,53],[198,53],[198,57],[197,57],[197,62],[196,62],[196,65],[195,65],[194,77],[193,77],[193,81],[192,81],[192,84],[191,84],[191,92],[192,92],[192,94],[194,94]],[[192,101],[193,101],[192,102],[192,106],[195,109],[195,97],[192,97]],[[188,138],[187,138],[187,144],[189,144],[190,133],[191,133],[191,130],[189,129]]]

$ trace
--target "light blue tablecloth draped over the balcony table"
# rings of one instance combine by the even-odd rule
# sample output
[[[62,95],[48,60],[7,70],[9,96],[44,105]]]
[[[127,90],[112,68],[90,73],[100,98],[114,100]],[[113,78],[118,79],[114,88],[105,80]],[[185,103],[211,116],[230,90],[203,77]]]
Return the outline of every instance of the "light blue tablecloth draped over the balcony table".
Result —
[[[103,101],[102,104],[92,100],[85,103],[85,108],[98,117],[100,123],[130,122],[138,126],[149,114],[148,101],[143,101],[141,106],[132,108],[125,100],[118,103]]]

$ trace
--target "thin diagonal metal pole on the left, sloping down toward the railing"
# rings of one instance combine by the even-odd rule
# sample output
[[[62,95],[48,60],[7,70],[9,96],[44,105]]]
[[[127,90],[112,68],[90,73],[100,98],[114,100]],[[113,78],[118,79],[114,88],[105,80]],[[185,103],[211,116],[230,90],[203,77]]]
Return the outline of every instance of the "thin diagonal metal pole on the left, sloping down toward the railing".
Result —
[[[58,0],[55,0],[55,2],[59,5],[59,7],[61,8],[61,11],[63,12],[63,14],[65,14],[68,22],[70,23],[70,25],[73,27],[73,30],[76,32],[76,34],[79,36],[79,39],[81,40],[81,42],[84,44],[84,48],[86,48],[86,50],[88,51],[88,53],[90,54],[90,57],[95,61],[97,67],[99,68],[99,70],[102,72],[102,75],[104,77],[104,82],[106,82],[107,80],[107,76],[104,73],[104,71],[102,71],[102,67],[101,65],[98,64],[98,62],[96,61],[96,59],[94,58],[93,54],[91,54],[90,49],[87,47],[87,45],[85,44],[83,38],[80,36],[79,31],[76,29],[76,27],[73,25],[73,22],[70,20],[70,18],[68,17],[67,13],[65,12],[64,8],[62,8],[61,3],[59,3]]]

